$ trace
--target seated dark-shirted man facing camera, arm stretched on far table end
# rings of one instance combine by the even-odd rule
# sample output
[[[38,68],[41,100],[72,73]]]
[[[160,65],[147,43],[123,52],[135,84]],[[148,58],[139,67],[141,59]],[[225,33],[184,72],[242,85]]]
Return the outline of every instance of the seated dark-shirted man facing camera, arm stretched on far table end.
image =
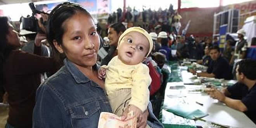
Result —
[[[232,78],[231,67],[228,64],[228,61],[221,57],[220,48],[216,45],[210,47],[210,55],[212,62],[209,65],[207,72],[198,73],[197,75],[230,80]]]

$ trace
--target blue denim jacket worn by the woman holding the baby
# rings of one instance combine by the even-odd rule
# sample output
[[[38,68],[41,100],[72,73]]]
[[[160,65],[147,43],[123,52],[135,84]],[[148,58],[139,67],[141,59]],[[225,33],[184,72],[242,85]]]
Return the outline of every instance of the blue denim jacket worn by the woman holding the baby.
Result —
[[[163,128],[150,106],[148,124]],[[100,112],[112,112],[106,93],[65,59],[36,92],[33,128],[97,128]]]

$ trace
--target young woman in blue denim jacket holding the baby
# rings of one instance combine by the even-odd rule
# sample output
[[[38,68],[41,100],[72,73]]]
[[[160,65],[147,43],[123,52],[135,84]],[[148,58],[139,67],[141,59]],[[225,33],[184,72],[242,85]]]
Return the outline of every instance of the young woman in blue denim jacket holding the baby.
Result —
[[[33,128],[97,128],[100,112],[111,112],[111,107],[104,81],[97,77],[100,41],[92,16],[78,4],[57,5],[48,19],[47,40],[55,55],[66,59],[37,90]],[[145,128],[147,114],[139,128]]]

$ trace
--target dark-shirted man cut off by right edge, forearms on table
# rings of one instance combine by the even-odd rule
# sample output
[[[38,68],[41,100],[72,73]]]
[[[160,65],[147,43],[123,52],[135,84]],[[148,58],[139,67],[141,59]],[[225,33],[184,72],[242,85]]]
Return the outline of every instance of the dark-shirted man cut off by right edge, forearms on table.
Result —
[[[247,59],[239,62],[236,68],[238,82],[224,88],[221,92],[216,88],[207,88],[206,92],[228,107],[244,112],[256,123],[256,61]]]

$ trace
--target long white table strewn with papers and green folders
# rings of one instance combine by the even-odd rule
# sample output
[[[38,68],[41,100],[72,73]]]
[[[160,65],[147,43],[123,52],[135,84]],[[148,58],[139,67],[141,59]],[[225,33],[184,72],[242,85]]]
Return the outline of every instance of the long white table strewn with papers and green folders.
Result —
[[[202,93],[201,84],[184,85],[183,79],[190,80],[193,76],[186,71],[187,68],[179,66],[178,62],[168,62],[167,66],[170,67],[171,73],[169,74],[168,83],[165,89],[164,102],[162,103],[161,111],[159,112],[159,120],[163,123],[165,128],[196,128],[199,126],[225,128],[229,125],[233,125],[234,127],[254,127],[255,124],[253,124],[244,113],[231,109],[223,105],[223,103],[215,103],[216,100],[211,99],[206,93]],[[211,79],[209,81],[212,82],[211,84],[216,84],[216,86],[221,86],[221,82],[223,82],[219,80],[212,81]],[[234,81],[232,83],[234,83]],[[185,86],[185,89],[183,86]],[[211,103],[203,104],[202,106],[195,102],[197,100],[199,102],[206,100]],[[213,109],[214,112],[208,108]],[[222,116],[223,114],[224,117],[227,117],[227,121],[231,123],[225,124],[224,122],[221,125],[217,125],[214,120],[220,119],[214,118],[215,113],[218,116]],[[210,116],[207,116],[208,114]],[[213,121],[209,122],[208,119],[211,120],[211,118],[213,118]],[[218,123],[218,121],[216,122]]]

